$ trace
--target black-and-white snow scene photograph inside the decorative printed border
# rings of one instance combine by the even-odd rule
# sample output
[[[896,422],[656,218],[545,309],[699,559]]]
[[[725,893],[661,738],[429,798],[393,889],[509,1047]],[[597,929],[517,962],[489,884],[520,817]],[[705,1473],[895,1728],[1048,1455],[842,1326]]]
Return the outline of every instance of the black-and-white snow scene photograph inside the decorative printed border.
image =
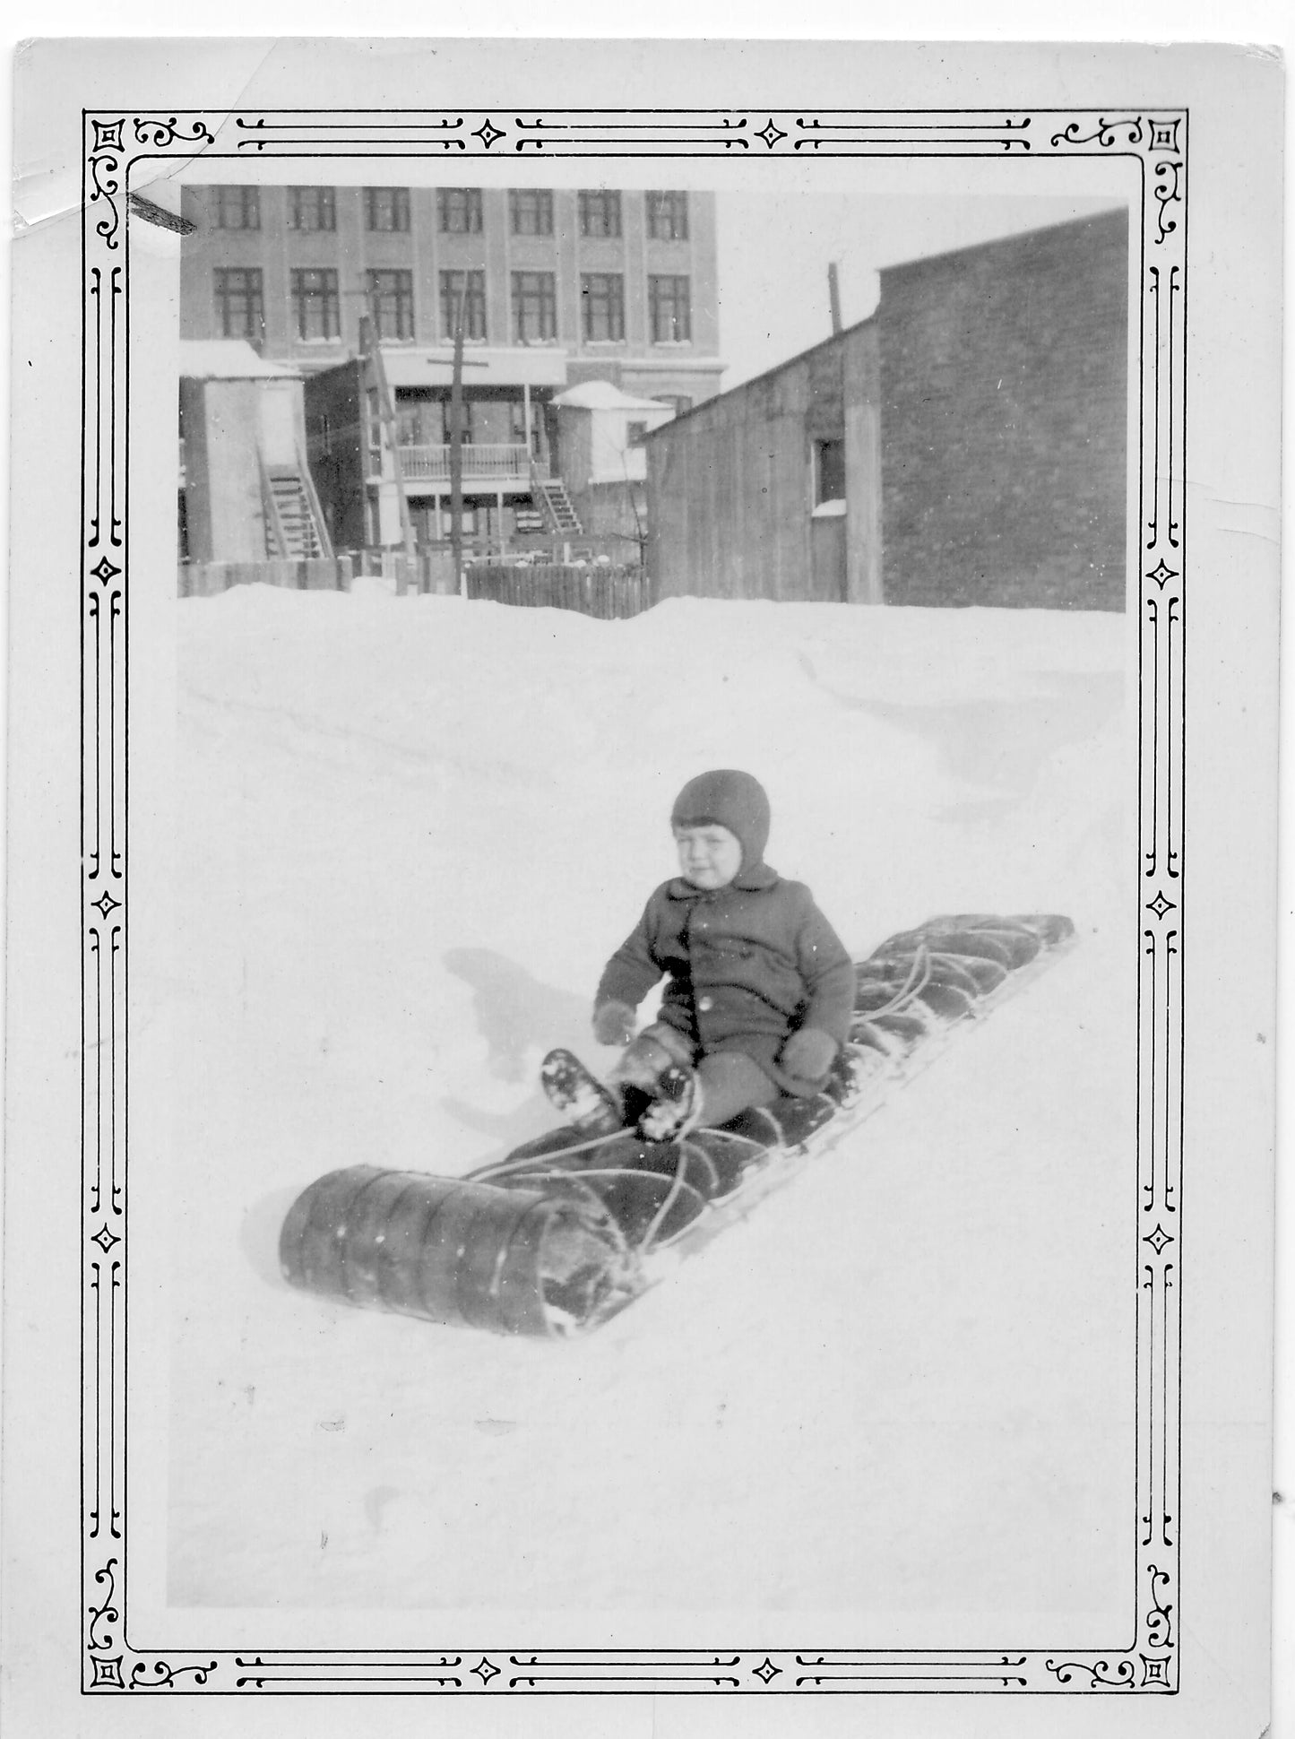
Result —
[[[170,1598],[1114,1635],[1128,198],[615,167],[183,188]]]

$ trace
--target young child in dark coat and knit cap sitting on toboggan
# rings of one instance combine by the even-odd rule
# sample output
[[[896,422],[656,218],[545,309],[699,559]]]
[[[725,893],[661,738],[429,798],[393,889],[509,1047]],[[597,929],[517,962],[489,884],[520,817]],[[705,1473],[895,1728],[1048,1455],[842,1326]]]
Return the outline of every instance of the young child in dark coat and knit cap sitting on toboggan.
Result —
[[[779,1094],[822,1089],[853,1009],[850,956],[800,882],[765,863],[768,798],[747,772],[704,772],[671,814],[680,875],[647,903],[598,984],[593,1029],[628,1043],[608,1083],[669,1141]],[[657,1019],[634,1009],[669,977]]]

